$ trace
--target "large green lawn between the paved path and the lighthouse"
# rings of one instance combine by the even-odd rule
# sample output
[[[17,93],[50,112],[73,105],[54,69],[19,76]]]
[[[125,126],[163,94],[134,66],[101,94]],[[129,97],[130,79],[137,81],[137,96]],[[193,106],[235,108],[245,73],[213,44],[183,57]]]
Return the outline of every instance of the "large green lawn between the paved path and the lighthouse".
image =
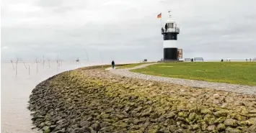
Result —
[[[256,86],[256,63],[159,63],[135,73]]]

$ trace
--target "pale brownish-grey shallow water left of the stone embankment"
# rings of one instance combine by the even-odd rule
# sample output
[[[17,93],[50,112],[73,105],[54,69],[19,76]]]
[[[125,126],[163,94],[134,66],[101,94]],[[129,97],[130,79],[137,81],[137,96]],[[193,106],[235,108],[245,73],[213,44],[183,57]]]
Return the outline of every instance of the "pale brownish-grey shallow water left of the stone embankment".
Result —
[[[25,68],[27,66],[27,69]],[[12,63],[1,63],[1,132],[32,133],[30,111],[27,109],[32,89],[41,81],[65,70],[89,65],[89,63],[64,62],[57,67],[56,62],[18,63],[17,76]],[[30,75],[28,70],[30,65]],[[90,63],[100,65],[100,63]],[[15,63],[14,63],[15,68]]]

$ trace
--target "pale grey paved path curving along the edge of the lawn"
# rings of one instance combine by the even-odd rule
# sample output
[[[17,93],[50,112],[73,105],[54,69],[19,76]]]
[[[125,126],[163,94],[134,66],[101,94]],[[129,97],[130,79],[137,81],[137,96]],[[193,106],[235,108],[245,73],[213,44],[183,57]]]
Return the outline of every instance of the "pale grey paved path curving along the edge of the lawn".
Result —
[[[242,86],[242,85],[235,85],[235,84],[229,84],[229,83],[213,83],[213,82],[207,82],[207,81],[195,81],[195,80],[187,80],[187,79],[181,79],[181,78],[166,78],[166,77],[160,77],[160,76],[154,76],[154,75],[145,75],[141,73],[133,73],[129,71],[133,69],[144,68],[148,65],[153,65],[153,64],[156,64],[156,63],[138,65],[134,68],[128,68],[128,69],[109,69],[109,70],[110,70],[110,73],[123,75],[125,77],[130,77],[130,78],[140,78],[140,79],[145,79],[149,81],[161,81],[161,82],[167,82],[167,83],[180,84],[183,86],[198,87],[198,88],[213,88],[221,91],[231,91],[235,93],[245,93],[245,94],[256,95],[256,86]]]

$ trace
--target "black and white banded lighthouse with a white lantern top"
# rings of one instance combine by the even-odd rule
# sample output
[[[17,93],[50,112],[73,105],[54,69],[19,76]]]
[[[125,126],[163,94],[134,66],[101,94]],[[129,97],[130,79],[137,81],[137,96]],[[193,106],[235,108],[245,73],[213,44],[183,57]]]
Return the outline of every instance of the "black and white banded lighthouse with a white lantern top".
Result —
[[[177,27],[176,22],[172,19],[169,11],[169,18],[162,27],[162,35],[164,38],[164,58],[162,60],[179,60],[177,48],[177,35],[180,33],[180,28]]]

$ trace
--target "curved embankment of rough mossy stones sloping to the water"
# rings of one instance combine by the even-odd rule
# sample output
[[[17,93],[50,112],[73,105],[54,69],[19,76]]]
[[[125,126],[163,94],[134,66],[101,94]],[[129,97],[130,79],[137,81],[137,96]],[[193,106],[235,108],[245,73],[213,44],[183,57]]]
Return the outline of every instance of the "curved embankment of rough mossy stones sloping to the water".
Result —
[[[48,78],[28,109],[44,133],[256,131],[256,96],[125,78],[102,66]]]

